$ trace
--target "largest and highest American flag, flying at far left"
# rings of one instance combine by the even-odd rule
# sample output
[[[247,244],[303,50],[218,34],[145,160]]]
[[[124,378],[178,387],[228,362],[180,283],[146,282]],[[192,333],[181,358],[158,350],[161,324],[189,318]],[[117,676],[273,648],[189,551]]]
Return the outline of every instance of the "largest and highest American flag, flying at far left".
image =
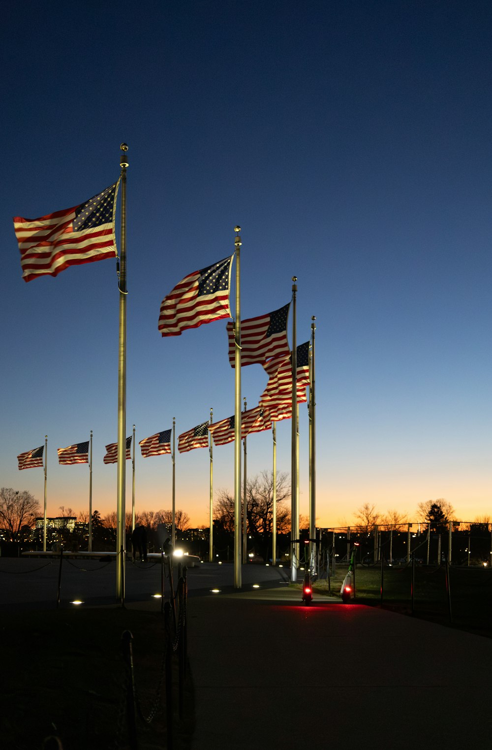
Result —
[[[13,218],[19,243],[22,278],[57,276],[68,266],[114,258],[118,182],[102,193],[64,211],[37,219]]]

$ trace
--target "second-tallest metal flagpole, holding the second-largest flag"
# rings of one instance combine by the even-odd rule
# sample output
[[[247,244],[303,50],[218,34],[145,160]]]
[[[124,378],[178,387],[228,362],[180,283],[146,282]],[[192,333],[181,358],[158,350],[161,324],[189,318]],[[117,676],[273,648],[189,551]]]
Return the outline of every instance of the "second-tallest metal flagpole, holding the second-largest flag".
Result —
[[[241,587],[241,297],[240,297],[240,226],[236,237],[236,311],[234,317],[234,588]]]

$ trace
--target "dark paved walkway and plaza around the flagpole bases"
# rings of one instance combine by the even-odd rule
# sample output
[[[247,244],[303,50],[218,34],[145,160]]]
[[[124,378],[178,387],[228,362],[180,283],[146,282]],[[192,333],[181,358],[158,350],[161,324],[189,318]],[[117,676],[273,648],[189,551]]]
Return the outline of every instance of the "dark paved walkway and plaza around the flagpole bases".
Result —
[[[0,609],[55,606],[58,565],[40,565],[0,560]],[[306,607],[287,575],[248,565],[234,592],[232,565],[189,571],[192,750],[492,748],[491,639],[339,599]],[[160,565],[127,566],[130,606],[160,608],[159,590]],[[64,566],[61,594],[115,604],[115,563]]]

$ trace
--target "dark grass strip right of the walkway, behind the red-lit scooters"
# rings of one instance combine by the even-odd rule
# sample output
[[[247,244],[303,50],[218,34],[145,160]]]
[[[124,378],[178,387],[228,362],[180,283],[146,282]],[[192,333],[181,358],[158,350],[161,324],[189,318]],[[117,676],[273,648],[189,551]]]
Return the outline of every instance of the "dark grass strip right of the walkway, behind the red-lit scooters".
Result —
[[[347,566],[339,566],[331,577],[331,593],[340,596],[341,582]],[[411,565],[384,567],[383,607],[404,614],[412,614]],[[381,568],[357,565],[356,601],[359,604],[381,604]],[[461,628],[485,637],[492,637],[492,570],[490,568],[461,568],[450,566],[451,619],[446,592],[445,565],[416,565],[413,616]],[[327,579],[314,584],[315,591],[328,592]]]

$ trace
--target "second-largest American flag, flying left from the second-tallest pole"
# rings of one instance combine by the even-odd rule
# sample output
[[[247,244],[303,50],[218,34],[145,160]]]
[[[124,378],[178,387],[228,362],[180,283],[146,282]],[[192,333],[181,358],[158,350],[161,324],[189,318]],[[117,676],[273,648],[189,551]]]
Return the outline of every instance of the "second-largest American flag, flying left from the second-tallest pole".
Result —
[[[163,336],[180,336],[186,329],[231,317],[229,290],[233,257],[185,276],[165,296],[159,316]]]

